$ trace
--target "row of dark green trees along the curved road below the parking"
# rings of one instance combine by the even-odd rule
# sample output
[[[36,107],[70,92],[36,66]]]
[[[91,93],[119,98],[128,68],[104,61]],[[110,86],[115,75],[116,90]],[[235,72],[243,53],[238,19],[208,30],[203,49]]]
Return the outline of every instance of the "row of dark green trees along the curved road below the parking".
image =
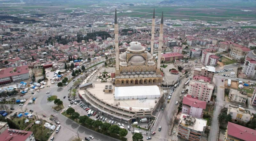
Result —
[[[83,127],[89,128],[110,137],[114,137],[121,141],[127,140],[125,136],[128,134],[128,131],[126,129],[120,128],[118,125],[111,125],[107,122],[103,123],[100,120],[95,121],[89,118],[87,115],[80,116],[78,112],[75,112],[74,108],[68,108],[61,114],[78,123],[79,125],[82,125]]]

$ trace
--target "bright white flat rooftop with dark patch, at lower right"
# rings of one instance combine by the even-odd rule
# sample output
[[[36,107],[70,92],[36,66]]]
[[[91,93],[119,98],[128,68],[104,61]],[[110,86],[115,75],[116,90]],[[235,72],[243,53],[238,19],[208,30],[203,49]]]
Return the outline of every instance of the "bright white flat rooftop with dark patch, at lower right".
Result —
[[[201,118],[192,117],[192,116],[189,116],[190,118],[188,118],[187,116],[188,115],[184,113],[180,115],[180,121],[179,121],[180,125],[196,131],[200,131],[200,132],[204,131],[204,127],[206,127],[206,123],[207,123],[206,119],[201,119]],[[193,124],[190,124],[190,125],[186,124],[185,118],[186,120],[193,121]]]

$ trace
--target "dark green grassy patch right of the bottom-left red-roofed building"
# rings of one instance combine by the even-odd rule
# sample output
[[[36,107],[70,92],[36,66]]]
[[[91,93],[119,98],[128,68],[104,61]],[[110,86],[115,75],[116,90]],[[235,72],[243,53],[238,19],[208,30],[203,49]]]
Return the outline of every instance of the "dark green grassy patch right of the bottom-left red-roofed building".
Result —
[[[45,121],[42,121],[41,126],[45,125]],[[33,124],[32,127],[28,128],[29,131],[32,131],[35,139],[39,139],[40,141],[47,141],[51,135],[51,131],[45,127],[43,127],[43,132],[39,129],[40,125]]]

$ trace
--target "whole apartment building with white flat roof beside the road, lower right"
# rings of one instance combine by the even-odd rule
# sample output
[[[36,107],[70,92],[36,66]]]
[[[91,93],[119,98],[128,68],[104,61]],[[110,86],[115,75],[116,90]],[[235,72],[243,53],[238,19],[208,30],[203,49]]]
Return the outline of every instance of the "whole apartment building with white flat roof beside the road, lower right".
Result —
[[[201,141],[206,123],[206,119],[182,113],[178,124],[178,136],[188,141]]]

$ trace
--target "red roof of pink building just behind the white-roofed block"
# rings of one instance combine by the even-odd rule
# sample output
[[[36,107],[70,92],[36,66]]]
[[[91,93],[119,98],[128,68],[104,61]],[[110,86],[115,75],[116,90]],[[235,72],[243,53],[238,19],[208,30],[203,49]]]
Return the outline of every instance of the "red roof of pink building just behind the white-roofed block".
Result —
[[[188,98],[185,96],[183,97],[182,103],[189,105],[191,107],[202,108],[202,109],[206,108],[206,101],[201,101],[201,100],[194,99],[194,98]]]

